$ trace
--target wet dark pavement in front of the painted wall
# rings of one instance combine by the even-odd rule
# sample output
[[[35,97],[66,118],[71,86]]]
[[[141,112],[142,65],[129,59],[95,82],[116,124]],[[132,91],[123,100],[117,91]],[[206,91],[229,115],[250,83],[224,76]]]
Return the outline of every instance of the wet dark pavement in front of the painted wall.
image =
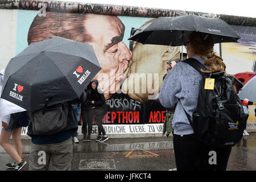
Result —
[[[172,137],[110,138],[105,143],[79,139],[79,143],[73,143],[73,171],[168,171],[175,168]],[[23,159],[28,162],[31,140],[23,139],[22,143]],[[0,147],[0,171],[11,170],[5,167],[11,161]],[[27,171],[28,164],[22,170]],[[256,133],[243,137],[232,148],[227,170],[256,170]]]

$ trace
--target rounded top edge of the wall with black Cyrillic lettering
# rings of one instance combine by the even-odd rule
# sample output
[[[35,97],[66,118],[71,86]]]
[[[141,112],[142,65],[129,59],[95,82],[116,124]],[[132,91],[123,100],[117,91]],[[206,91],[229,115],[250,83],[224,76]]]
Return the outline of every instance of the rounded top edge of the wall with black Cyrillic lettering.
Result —
[[[182,16],[195,14],[209,18],[220,18],[228,24],[239,26],[256,26],[256,18],[233,16],[224,14],[200,13],[183,10],[156,9],[148,7],[106,5],[96,3],[64,2],[64,1],[38,1],[38,0],[4,0],[0,1],[0,9],[40,10],[45,5],[46,11],[59,11],[65,13],[93,13],[102,15],[137,16],[158,18],[159,16]]]

